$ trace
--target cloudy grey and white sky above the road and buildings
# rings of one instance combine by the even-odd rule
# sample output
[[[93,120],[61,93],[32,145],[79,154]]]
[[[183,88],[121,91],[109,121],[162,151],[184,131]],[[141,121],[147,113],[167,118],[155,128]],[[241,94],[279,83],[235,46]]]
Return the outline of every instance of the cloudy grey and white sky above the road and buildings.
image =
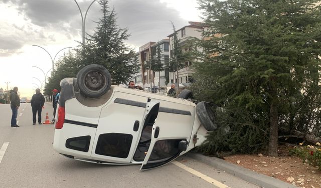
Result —
[[[83,17],[92,1],[77,1]],[[172,34],[171,21],[176,29],[202,21],[197,0],[113,0],[109,7],[131,34],[125,43],[136,51]],[[86,33],[94,32],[100,8],[94,2],[88,10]],[[50,76],[52,59],[82,41],[80,11],[75,0],[0,0],[0,18],[0,88],[17,86],[21,97],[31,98]]]

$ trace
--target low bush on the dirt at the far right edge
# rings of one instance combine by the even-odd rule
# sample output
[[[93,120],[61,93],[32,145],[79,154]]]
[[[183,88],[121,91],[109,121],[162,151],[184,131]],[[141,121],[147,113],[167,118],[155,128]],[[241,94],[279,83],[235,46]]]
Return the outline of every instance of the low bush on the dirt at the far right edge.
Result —
[[[321,144],[317,142],[315,146],[306,145],[294,147],[289,150],[290,155],[298,156],[302,159],[302,162],[307,162],[309,165],[317,167],[318,170],[321,170]]]

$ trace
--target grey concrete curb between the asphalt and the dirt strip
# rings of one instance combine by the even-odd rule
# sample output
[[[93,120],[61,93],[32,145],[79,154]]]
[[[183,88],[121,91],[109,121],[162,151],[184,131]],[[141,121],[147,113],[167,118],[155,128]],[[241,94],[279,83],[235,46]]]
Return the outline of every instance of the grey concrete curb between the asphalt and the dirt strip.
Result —
[[[243,180],[246,180],[250,183],[257,184],[259,186],[262,186],[264,188],[294,188],[297,187],[295,185],[286,183],[284,181],[281,181],[279,179],[269,177],[267,175],[263,175],[261,173],[257,173],[255,171],[243,168],[241,166],[232,164],[230,162],[227,162],[223,159],[217,158],[217,157],[209,157],[205,156],[200,153],[193,153],[189,152],[185,154],[186,156],[189,156],[191,158],[194,158],[200,162],[203,162],[209,166],[213,166],[217,169],[224,170],[227,173],[230,173],[236,177],[239,177]]]

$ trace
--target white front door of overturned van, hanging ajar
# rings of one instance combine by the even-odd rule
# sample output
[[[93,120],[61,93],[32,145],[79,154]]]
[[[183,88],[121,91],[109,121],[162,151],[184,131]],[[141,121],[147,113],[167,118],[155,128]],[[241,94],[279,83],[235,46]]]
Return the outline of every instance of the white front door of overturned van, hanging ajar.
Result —
[[[167,101],[161,101],[160,104],[141,170],[171,162],[187,150],[191,138],[195,107]]]

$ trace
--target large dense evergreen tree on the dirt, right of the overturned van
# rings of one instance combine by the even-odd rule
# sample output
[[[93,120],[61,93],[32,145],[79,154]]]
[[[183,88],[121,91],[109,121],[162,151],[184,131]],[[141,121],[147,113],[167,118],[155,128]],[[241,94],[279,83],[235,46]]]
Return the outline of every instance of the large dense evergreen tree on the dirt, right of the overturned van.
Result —
[[[244,133],[239,136],[258,138],[247,146],[266,144],[271,156],[277,156],[280,120],[297,120],[292,107],[298,99],[313,88],[320,91],[321,14],[316,2],[199,0],[209,30],[206,40],[198,41],[204,51],[202,62],[195,63],[194,87],[203,93],[196,93],[233,109],[240,125],[235,129]]]

